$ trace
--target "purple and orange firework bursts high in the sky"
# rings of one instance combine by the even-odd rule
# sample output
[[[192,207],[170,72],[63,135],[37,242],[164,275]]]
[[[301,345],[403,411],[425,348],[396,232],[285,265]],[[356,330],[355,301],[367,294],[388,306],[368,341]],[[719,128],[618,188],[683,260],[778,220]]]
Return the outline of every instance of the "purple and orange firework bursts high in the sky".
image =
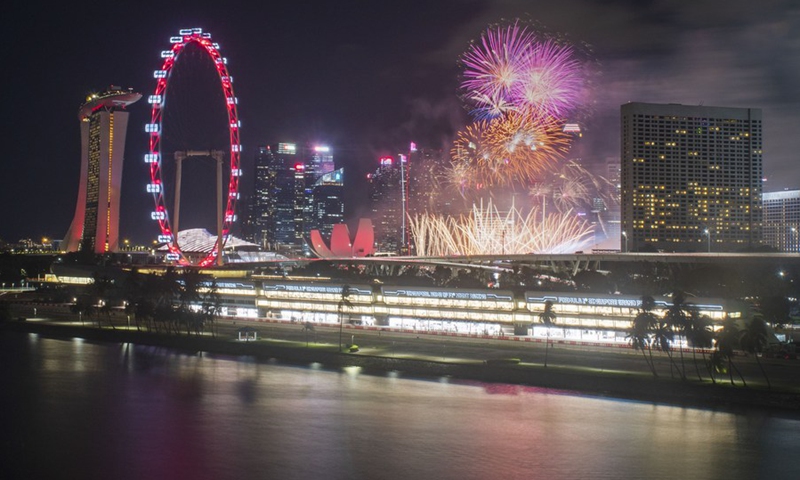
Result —
[[[572,46],[515,22],[489,28],[461,64],[463,98],[476,122],[454,142],[447,178],[462,196],[529,185],[564,158],[570,137],[562,127],[584,91],[585,69]]]

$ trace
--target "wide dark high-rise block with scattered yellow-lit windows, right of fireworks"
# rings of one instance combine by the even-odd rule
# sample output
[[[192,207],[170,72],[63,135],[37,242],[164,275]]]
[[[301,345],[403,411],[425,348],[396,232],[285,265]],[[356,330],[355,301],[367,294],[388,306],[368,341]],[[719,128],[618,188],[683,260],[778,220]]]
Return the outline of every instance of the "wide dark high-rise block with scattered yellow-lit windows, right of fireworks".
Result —
[[[621,114],[623,250],[760,244],[760,109],[628,103]]]

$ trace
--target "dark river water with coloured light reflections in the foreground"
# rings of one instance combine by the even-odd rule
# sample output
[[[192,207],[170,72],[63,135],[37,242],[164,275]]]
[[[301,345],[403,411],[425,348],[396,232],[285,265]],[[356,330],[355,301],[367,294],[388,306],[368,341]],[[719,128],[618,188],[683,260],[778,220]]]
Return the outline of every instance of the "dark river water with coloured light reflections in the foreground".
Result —
[[[0,478],[797,478],[800,420],[0,334]]]

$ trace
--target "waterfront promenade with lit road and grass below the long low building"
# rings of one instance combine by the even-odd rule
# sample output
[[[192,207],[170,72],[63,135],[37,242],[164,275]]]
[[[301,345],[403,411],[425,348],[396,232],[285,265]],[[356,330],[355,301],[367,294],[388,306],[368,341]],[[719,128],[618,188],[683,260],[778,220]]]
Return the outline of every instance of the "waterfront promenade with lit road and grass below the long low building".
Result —
[[[35,309],[35,310],[34,310]],[[545,339],[431,335],[362,328],[345,325],[305,325],[280,321],[221,319],[216,335],[157,334],[139,331],[129,318],[116,313],[86,321],[65,307],[15,305],[13,318],[1,330],[31,332],[56,338],[129,342],[176,348],[191,354],[248,355],[297,365],[322,368],[356,367],[366,373],[464,381],[525,384],[554,392],[629,398],[653,403],[719,409],[763,408],[800,414],[800,361],[761,358],[771,389],[752,356],[734,361],[747,387],[738,376],[735,386],[727,374],[713,383],[703,365],[701,352],[673,352],[672,360],[653,352],[658,372],[654,377],[642,353],[620,346],[565,344],[546,346]],[[19,321],[25,318],[25,321]],[[109,322],[110,320],[110,322]],[[113,325],[113,327],[112,327]],[[258,340],[237,340],[242,328],[254,330]],[[357,351],[339,351],[358,346]],[[696,359],[696,360],[695,360]],[[545,362],[547,366],[545,366]],[[698,371],[700,379],[698,379]],[[686,380],[681,374],[685,372]]]

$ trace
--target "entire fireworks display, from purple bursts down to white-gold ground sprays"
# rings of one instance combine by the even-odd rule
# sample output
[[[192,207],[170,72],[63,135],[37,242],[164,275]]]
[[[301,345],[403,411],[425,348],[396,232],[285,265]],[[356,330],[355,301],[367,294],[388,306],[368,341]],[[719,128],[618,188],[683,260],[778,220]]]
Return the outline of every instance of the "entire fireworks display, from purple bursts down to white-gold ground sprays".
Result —
[[[584,216],[608,182],[564,159],[564,124],[585,100],[582,51],[515,22],[490,27],[461,56],[462,98],[475,121],[458,133],[445,182],[464,198],[530,189],[535,207],[498,211],[491,201],[459,217],[409,219],[418,255],[566,253],[593,241]],[[604,183],[605,182],[605,183]],[[606,197],[606,193],[608,196]],[[548,210],[548,211],[546,211]],[[580,214],[578,212],[581,212]]]

